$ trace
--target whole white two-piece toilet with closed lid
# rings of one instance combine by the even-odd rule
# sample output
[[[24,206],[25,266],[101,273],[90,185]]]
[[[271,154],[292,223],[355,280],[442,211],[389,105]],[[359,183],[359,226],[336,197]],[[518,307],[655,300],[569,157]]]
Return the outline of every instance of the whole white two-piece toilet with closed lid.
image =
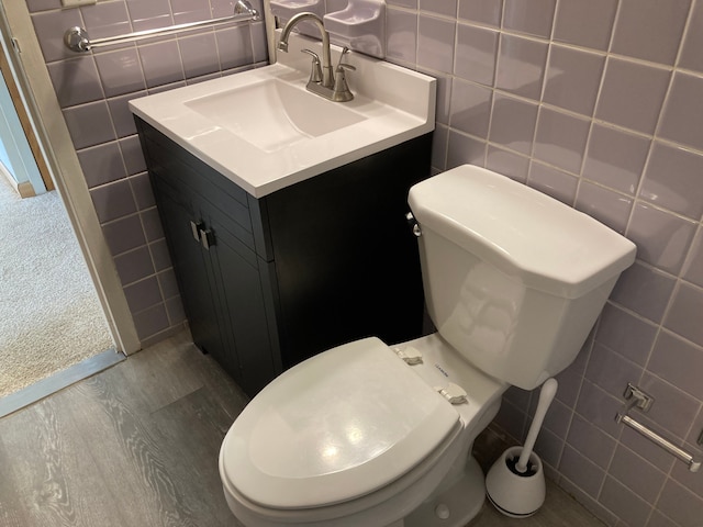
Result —
[[[409,204],[436,333],[338,346],[257,394],[220,450],[243,525],[465,526],[486,493],[471,447],[501,395],[573,361],[635,259],[592,217],[479,167],[415,184]]]

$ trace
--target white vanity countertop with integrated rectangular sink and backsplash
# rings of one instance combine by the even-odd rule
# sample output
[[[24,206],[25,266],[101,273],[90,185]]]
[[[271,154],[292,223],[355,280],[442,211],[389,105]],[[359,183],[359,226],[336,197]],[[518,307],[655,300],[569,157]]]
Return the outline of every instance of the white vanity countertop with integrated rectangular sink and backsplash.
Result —
[[[435,79],[360,54],[347,61],[355,99],[305,90],[321,43],[291,35],[289,53],[258,69],[130,101],[134,114],[255,198],[434,130]],[[333,46],[333,63],[341,49]]]

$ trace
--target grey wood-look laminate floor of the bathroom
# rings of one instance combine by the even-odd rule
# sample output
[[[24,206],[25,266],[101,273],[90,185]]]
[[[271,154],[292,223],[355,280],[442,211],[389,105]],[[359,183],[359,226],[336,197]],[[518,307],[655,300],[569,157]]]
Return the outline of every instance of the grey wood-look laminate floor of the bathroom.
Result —
[[[246,401],[183,333],[3,417],[0,526],[237,526],[217,452]],[[532,518],[471,523],[513,525],[602,527],[554,485]]]

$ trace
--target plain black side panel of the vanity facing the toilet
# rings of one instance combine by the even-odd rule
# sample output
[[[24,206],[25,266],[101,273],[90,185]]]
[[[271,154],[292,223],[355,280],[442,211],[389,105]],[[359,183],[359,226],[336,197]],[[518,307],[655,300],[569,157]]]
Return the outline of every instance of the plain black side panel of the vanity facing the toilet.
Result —
[[[423,329],[408,191],[429,173],[423,136],[263,198],[275,255],[283,366],[375,335]]]

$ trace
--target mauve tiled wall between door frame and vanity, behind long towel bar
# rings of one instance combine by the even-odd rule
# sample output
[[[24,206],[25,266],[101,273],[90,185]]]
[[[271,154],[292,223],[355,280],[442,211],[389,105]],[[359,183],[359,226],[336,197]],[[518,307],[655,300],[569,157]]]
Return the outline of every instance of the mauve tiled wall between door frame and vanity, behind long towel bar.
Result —
[[[75,54],[64,32],[91,38],[233,14],[231,0],[100,0],[62,9],[26,0],[46,67],[114,257],[143,346],[185,321],[178,287],[127,101],[267,64],[266,30],[221,25]],[[253,0],[261,10],[260,0]]]

